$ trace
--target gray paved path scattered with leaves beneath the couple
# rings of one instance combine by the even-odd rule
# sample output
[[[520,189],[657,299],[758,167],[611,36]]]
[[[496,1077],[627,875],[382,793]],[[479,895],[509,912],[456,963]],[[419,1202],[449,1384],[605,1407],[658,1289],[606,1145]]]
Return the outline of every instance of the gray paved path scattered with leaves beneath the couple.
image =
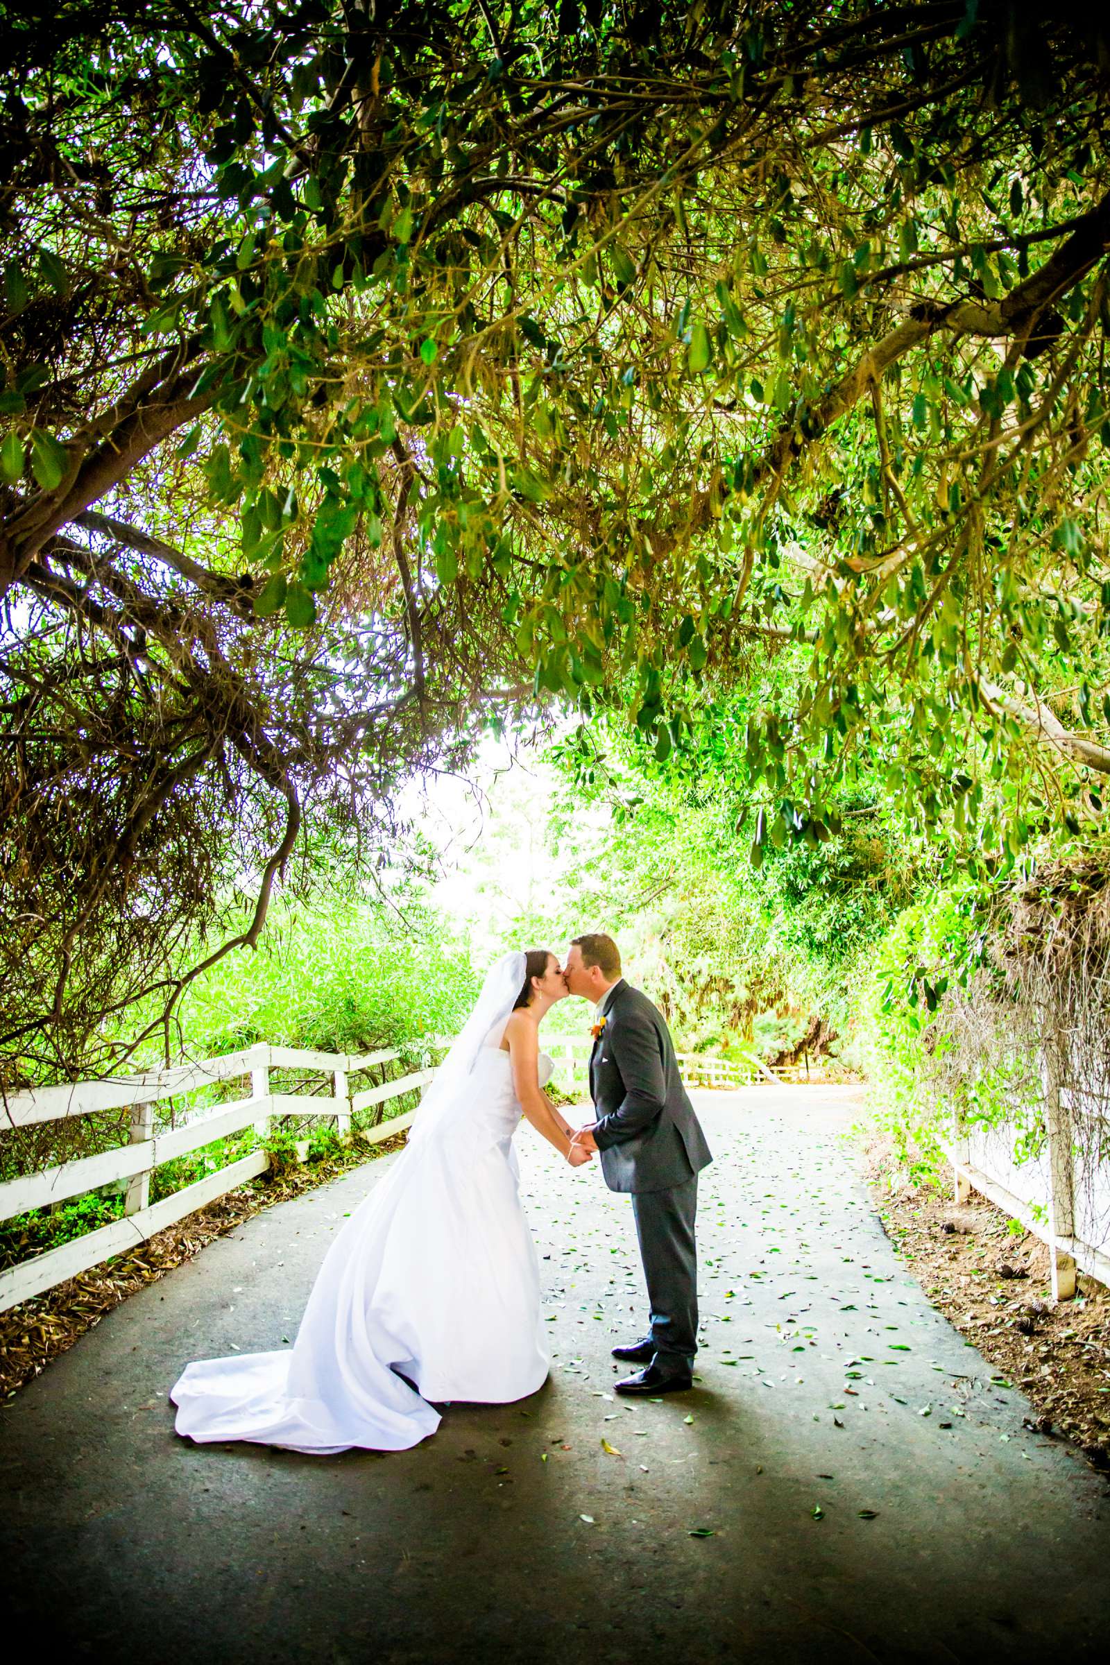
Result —
[[[35,1652],[1105,1658],[1107,1485],[1023,1432],[1022,1395],[899,1264],[837,1137],[852,1091],[697,1104],[717,1162],[692,1394],[612,1397],[609,1347],[642,1315],[627,1200],[524,1132],[556,1352],[534,1399],[453,1407],[389,1457],[178,1440],[181,1365],[295,1335],[371,1162],[133,1295],[0,1415],[0,1583]]]

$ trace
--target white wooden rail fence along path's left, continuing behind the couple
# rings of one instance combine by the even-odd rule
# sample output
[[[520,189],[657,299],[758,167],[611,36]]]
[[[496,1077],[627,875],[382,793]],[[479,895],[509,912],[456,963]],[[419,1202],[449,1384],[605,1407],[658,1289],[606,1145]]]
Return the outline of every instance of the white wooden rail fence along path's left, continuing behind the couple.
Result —
[[[438,1042],[439,1047],[446,1044]],[[574,1087],[584,1086],[592,1046],[589,1037],[561,1037],[546,1044],[553,1057],[562,1061],[564,1082]],[[374,1104],[388,1104],[431,1081],[433,1069],[418,1069],[351,1094],[348,1086],[351,1076],[379,1064],[396,1062],[399,1056],[394,1051],[381,1051],[353,1057],[260,1042],[241,1052],[226,1052],[223,1057],[201,1059],[195,1064],[178,1064],[115,1081],[80,1081],[73,1086],[38,1087],[33,1092],[10,1097],[7,1104],[0,1102],[0,1134],[5,1129],[32,1127],[72,1116],[93,1116],[102,1111],[128,1109],[131,1112],[128,1144],[0,1182],[0,1222],[32,1209],[87,1195],[105,1185],[125,1185],[120,1219],[0,1272],[0,1312],[53,1289],[55,1284],[62,1284],[78,1272],[100,1265],[111,1255],[136,1249],[155,1232],[183,1220],[216,1197],[223,1197],[238,1185],[245,1185],[246,1180],[265,1174],[270,1167],[270,1156],[265,1149],[251,1151],[151,1204],[150,1179],[163,1162],[188,1156],[191,1151],[243,1132],[246,1127],[253,1127],[260,1137],[265,1137],[273,1116],[330,1117],[339,1137],[349,1139],[353,1116]],[[689,1086],[734,1087],[747,1079],[742,1066],[737,1067],[726,1059],[692,1052],[681,1052],[679,1066]],[[271,1092],[271,1069],[316,1071],[331,1076],[331,1092]],[[236,1077],[246,1081],[248,1076],[250,1092],[245,1097],[211,1106],[191,1116],[181,1127],[155,1134],[155,1104],[160,1101]],[[389,1139],[406,1129],[414,1114],[414,1111],[408,1111],[403,1116],[393,1116],[373,1129],[363,1131],[361,1137],[371,1142]],[[296,1144],[298,1161],[305,1161],[308,1146],[308,1139]]]

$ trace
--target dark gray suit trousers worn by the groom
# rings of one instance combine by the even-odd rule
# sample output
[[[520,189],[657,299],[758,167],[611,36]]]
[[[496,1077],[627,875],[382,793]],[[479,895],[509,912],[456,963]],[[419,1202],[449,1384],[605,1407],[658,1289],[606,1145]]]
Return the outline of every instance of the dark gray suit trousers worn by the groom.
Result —
[[[634,1190],[632,1214],[647,1279],[656,1362],[677,1375],[691,1369],[697,1352],[697,1174],[667,1190]]]

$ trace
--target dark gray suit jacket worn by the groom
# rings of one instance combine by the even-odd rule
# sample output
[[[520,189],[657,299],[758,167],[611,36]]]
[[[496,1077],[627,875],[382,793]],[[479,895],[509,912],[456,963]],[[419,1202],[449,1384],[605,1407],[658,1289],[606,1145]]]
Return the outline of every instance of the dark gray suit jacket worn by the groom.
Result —
[[[712,1162],[671,1032],[647,996],[624,981],[609,994],[589,1091],[609,1190],[669,1190]]]

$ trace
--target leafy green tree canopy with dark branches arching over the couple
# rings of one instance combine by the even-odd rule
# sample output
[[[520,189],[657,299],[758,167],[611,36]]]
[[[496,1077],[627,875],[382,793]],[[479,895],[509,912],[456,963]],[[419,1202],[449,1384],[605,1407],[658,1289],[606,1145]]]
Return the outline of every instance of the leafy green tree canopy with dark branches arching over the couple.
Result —
[[[298,849],[373,861],[399,779],[556,701],[664,761],[754,676],[756,849],[827,836],[864,756],[992,859],[1102,813],[1092,8],[5,25],[13,1077],[221,886],[255,941]]]

